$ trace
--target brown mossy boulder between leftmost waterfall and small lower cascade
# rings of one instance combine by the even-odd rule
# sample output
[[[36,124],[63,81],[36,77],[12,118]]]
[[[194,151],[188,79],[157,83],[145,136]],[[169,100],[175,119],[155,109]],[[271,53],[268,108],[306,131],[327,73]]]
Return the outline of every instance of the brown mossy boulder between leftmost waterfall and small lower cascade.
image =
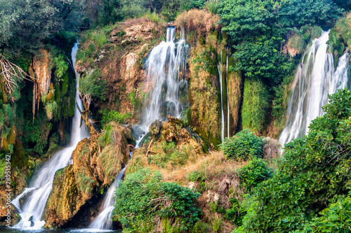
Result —
[[[72,154],[73,164],[55,174],[43,216],[46,227],[74,226],[69,221],[90,205],[91,199],[100,197],[102,188],[126,166],[132,141],[130,129],[113,124],[108,132],[79,142]]]

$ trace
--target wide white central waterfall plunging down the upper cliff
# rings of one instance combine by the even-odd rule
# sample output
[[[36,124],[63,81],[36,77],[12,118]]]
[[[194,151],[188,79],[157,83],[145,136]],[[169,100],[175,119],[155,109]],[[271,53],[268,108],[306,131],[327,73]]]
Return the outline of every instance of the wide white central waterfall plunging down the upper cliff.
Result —
[[[149,127],[154,120],[166,120],[167,115],[178,117],[183,106],[179,101],[180,81],[186,73],[189,45],[183,29],[175,42],[176,27],[167,27],[166,41],[152,49],[145,62],[150,103],[145,108],[142,125]]]

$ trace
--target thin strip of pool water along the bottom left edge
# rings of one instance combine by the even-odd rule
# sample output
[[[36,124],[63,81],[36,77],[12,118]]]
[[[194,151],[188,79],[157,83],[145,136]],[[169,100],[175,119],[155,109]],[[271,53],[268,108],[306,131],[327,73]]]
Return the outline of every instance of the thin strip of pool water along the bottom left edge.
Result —
[[[121,231],[117,230],[98,230],[98,229],[89,229],[89,228],[77,228],[77,229],[58,229],[58,230],[20,230],[11,227],[0,227],[0,233],[120,233]]]

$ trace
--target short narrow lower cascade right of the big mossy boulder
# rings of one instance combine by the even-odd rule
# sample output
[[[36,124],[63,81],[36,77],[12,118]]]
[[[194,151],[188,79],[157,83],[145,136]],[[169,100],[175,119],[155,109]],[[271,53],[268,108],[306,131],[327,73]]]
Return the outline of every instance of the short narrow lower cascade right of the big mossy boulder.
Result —
[[[112,230],[112,211],[114,209],[114,191],[119,186],[120,181],[122,181],[124,176],[124,171],[126,171],[126,167],[122,169],[112,183],[111,187],[107,191],[104,203],[102,205],[102,211],[96,217],[91,225],[89,225],[92,229],[98,230]]]

